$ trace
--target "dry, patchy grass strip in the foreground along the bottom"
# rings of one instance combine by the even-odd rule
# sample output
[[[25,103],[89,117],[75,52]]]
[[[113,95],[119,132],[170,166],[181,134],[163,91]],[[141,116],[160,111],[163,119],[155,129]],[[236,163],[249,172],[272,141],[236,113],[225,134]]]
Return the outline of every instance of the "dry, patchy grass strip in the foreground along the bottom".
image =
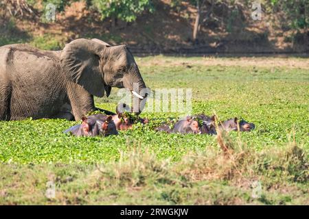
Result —
[[[308,181],[290,180],[308,176],[301,158],[293,160],[306,170],[288,169],[286,157],[297,155],[295,148],[304,154],[290,146],[261,152],[242,147],[224,157],[210,147],[172,163],[151,150],[133,149],[106,164],[0,164],[0,204],[308,205]],[[47,182],[55,185],[54,198],[45,196]]]

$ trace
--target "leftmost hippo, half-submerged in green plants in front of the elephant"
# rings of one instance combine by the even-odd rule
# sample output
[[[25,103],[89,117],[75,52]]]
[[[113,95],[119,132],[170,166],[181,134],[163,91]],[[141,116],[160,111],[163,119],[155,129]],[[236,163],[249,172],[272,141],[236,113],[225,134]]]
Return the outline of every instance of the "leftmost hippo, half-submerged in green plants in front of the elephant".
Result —
[[[108,120],[108,116],[103,114],[94,114],[82,118],[82,124],[75,125],[64,133],[71,133],[74,136],[110,136],[117,135],[118,131],[113,120]],[[85,128],[88,127],[86,131]]]

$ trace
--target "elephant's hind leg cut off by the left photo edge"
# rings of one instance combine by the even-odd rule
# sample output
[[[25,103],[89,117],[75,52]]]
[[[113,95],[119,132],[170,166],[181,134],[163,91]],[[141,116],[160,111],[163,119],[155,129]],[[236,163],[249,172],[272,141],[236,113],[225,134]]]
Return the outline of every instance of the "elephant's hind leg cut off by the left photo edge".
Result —
[[[0,120],[10,120],[10,86],[3,86],[0,83]]]

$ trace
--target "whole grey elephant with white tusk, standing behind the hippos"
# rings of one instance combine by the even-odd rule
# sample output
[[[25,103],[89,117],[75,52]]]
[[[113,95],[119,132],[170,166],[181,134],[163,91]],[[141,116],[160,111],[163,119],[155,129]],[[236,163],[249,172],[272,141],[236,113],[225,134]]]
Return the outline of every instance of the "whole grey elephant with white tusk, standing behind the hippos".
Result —
[[[109,96],[112,87],[130,90],[139,103],[135,113],[141,113],[146,84],[124,44],[80,38],[62,51],[27,44],[0,47],[0,120],[80,120],[95,110],[113,114],[96,108],[93,101],[93,96]]]

